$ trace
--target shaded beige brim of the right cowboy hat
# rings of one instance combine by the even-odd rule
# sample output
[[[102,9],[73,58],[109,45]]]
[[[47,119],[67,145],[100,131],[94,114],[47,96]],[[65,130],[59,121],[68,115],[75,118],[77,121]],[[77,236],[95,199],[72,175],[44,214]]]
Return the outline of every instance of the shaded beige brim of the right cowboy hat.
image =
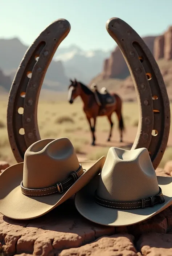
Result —
[[[79,213],[94,223],[106,226],[132,225],[151,218],[172,204],[172,177],[157,176],[165,202],[153,207],[136,210],[117,210],[103,207],[94,200],[100,175],[75,194],[75,206]]]

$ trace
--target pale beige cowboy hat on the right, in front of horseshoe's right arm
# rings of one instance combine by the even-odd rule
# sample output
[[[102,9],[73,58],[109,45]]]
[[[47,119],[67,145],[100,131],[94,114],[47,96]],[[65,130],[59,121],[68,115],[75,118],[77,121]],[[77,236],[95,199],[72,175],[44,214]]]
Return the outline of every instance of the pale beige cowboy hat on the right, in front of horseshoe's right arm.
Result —
[[[82,216],[107,226],[142,222],[172,204],[172,178],[156,176],[146,148],[111,147],[99,175],[75,194]]]

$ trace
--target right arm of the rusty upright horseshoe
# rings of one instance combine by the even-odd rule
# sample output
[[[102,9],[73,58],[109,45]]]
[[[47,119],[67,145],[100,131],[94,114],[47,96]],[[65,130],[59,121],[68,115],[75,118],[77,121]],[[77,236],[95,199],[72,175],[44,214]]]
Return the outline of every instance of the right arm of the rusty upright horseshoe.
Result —
[[[170,129],[170,105],[163,77],[150,49],[126,22],[112,18],[106,29],[123,54],[137,94],[139,125],[132,149],[146,147],[156,169]]]

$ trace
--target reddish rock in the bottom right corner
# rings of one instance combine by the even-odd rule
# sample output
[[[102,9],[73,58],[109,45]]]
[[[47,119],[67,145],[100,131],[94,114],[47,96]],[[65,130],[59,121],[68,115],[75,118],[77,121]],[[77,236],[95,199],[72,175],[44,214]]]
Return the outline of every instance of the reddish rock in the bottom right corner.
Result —
[[[137,248],[146,256],[170,256],[172,255],[172,235],[150,233],[140,237]]]

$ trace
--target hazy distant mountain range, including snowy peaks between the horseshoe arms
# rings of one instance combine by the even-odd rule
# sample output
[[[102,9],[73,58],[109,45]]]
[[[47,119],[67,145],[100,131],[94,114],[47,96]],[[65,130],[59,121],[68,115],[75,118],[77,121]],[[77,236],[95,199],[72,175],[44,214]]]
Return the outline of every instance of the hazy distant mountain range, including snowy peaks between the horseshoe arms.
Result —
[[[11,82],[16,70],[28,49],[19,38],[0,39],[0,70]],[[42,88],[56,91],[66,91],[70,78],[77,78],[84,83],[101,72],[103,61],[110,56],[109,51],[84,51],[77,45],[59,47],[46,72]],[[3,84],[0,75],[0,86],[9,89],[11,85]],[[9,81],[9,79],[8,79]]]

